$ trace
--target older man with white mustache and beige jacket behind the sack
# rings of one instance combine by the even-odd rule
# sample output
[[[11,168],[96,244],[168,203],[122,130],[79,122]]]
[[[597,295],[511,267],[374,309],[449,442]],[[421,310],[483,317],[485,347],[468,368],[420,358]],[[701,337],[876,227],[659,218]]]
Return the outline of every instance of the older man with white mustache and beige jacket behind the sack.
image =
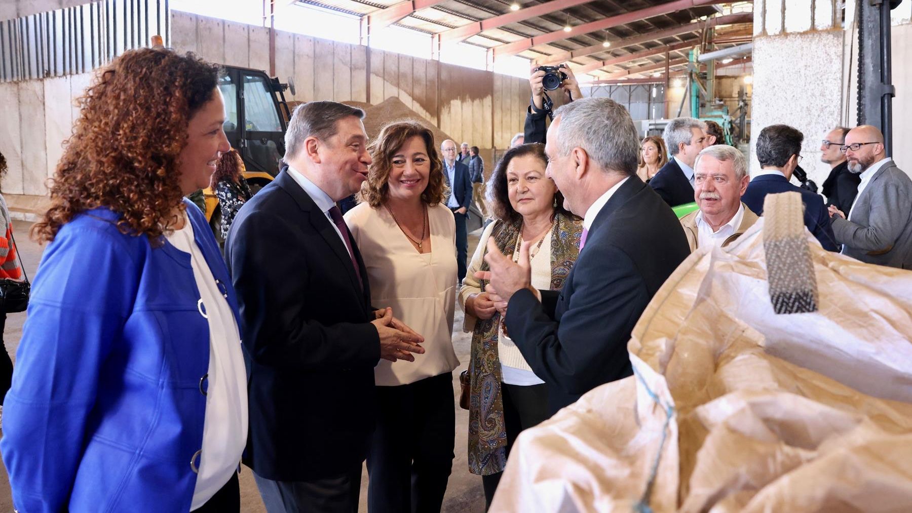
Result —
[[[751,178],[739,149],[723,144],[703,149],[693,176],[693,198],[700,210],[681,218],[691,252],[708,246],[724,248],[760,219],[741,203]]]

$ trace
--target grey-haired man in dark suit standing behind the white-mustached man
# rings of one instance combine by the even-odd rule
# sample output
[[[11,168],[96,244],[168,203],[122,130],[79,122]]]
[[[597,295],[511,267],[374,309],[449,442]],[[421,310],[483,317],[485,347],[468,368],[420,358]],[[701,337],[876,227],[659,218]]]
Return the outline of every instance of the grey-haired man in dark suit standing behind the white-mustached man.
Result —
[[[668,121],[662,139],[671,159],[649,180],[649,187],[668,203],[677,207],[693,201],[693,163],[706,146],[706,125],[696,118],[674,118]]]

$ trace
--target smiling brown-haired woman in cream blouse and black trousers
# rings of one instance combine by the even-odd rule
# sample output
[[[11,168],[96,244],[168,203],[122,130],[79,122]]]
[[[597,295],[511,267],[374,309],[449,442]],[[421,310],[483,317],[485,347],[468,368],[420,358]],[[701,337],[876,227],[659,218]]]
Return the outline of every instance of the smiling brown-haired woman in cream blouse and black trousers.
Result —
[[[368,269],[373,304],[389,304],[424,336],[415,362],[380,360],[378,423],[368,452],[368,510],[440,511],[450,477],[456,412],[451,333],[456,223],[443,203],[434,136],[412,121],[372,143],[363,202],[345,216]]]

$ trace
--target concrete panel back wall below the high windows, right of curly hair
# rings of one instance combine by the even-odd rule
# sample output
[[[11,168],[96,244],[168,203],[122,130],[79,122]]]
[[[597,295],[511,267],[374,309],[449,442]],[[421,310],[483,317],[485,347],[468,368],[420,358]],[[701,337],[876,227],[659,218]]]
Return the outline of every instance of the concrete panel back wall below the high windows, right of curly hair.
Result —
[[[269,31],[174,11],[171,45],[213,62],[269,70]],[[482,149],[503,149],[523,130],[529,82],[523,78],[276,31],[275,75],[294,77],[288,99],[361,101],[388,97]],[[287,95],[287,92],[286,92]]]

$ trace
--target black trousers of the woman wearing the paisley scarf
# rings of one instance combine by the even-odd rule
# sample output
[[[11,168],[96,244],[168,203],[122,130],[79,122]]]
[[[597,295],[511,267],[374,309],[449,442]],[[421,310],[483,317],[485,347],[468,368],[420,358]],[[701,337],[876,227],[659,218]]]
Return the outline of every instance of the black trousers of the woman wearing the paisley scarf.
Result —
[[[513,449],[513,442],[523,429],[537,426],[547,420],[548,389],[547,385],[507,385],[501,384],[503,398],[503,427],[507,430],[507,457]],[[501,482],[503,472],[482,476],[484,487],[484,509],[491,508],[491,501],[497,485]]]

